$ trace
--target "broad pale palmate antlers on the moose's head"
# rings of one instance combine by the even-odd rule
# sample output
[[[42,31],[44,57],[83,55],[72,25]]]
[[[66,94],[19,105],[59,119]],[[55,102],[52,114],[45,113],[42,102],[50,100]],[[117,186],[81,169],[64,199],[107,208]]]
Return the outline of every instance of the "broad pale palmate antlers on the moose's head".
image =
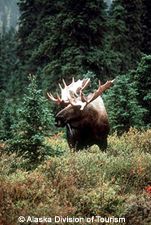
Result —
[[[71,104],[72,106],[80,106],[80,110],[83,110],[86,105],[94,101],[98,96],[100,96],[105,90],[109,89],[113,84],[114,80],[109,80],[105,84],[101,85],[99,81],[98,89],[93,93],[85,96],[83,90],[89,85],[90,79],[74,81],[72,78],[72,83],[67,85],[63,80],[64,88],[59,84],[61,89],[61,98],[57,94],[57,98],[53,97],[51,93],[47,93],[48,97],[56,102],[57,104]]]

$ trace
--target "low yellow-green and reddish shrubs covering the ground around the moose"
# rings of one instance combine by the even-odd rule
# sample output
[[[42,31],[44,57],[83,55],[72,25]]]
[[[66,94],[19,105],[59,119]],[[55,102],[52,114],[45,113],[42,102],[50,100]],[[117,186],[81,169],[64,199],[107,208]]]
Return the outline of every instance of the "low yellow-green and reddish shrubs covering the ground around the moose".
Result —
[[[27,159],[6,154],[1,145],[0,224],[19,224],[19,216],[114,216],[125,217],[127,225],[149,225],[151,130],[113,134],[107,152],[96,146],[72,152],[63,136],[46,140],[56,156],[30,170]]]

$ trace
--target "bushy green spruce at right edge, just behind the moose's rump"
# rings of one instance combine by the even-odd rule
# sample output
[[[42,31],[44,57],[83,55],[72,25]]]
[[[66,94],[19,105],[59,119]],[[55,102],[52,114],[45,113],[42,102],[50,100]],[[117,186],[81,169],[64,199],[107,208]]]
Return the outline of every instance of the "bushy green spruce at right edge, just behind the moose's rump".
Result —
[[[151,125],[151,56],[143,56],[137,68],[116,77],[105,95],[112,131],[127,131]]]

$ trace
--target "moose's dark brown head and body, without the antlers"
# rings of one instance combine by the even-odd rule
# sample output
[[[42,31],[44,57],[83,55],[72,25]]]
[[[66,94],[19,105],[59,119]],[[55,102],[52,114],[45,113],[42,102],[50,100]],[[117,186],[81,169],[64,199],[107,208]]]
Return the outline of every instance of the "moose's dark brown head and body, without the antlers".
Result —
[[[66,106],[56,115],[56,125],[66,126],[70,148],[79,150],[94,144],[102,150],[107,147],[109,122],[101,97],[96,98],[83,110],[80,110],[79,106]]]

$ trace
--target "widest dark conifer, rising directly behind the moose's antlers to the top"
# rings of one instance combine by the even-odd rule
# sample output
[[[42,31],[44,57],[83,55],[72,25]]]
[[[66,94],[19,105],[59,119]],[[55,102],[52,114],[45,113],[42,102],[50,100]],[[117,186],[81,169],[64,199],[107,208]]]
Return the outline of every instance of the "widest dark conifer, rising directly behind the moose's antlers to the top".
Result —
[[[103,0],[25,0],[19,6],[19,56],[28,72],[43,74],[44,87],[88,70],[103,76]]]

